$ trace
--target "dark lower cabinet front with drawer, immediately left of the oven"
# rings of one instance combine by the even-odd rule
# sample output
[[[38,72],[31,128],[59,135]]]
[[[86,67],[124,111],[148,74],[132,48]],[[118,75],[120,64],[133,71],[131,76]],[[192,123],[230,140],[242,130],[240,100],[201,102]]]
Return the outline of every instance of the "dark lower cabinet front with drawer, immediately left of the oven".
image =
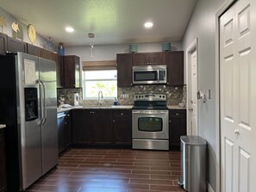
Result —
[[[132,145],[132,110],[113,110],[114,144]]]

